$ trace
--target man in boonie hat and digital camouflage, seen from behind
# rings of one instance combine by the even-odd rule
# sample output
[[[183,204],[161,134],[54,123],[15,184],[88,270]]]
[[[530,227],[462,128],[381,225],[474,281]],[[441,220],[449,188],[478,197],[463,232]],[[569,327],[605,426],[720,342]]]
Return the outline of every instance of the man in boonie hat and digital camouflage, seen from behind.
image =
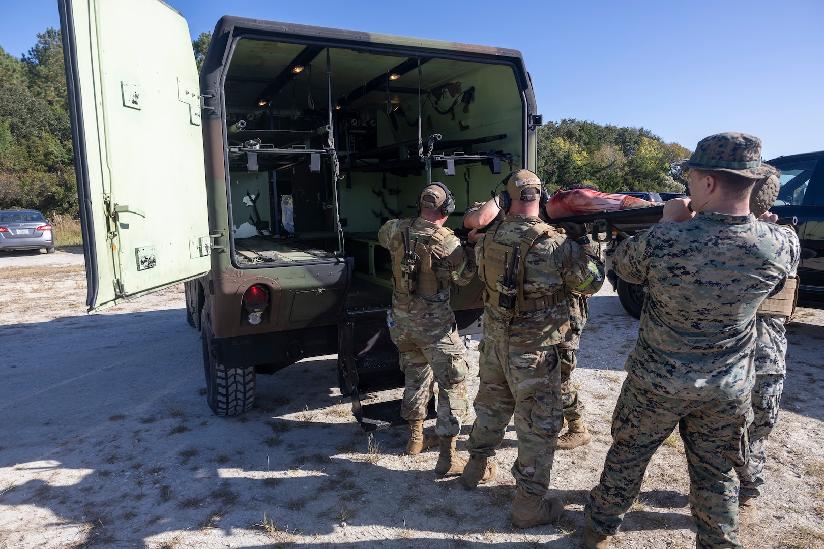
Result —
[[[706,137],[683,163],[697,213],[686,198],[670,200],[658,225],[616,249],[616,274],[648,292],[612,446],[584,509],[589,549],[607,547],[675,426],[690,472],[696,549],[741,547],[733,468],[749,453],[756,309],[784,285],[797,246],[750,213],[752,184],[773,172],[760,158],[756,137]]]

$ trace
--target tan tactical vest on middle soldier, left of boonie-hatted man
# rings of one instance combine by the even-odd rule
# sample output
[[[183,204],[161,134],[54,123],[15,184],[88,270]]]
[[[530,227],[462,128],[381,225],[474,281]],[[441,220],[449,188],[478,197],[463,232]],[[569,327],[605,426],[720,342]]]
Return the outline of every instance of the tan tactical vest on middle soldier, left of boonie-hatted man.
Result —
[[[498,233],[501,223],[503,223],[503,221],[499,221],[491,230],[487,230],[484,238],[484,246],[480,251],[480,258],[478,258],[478,271],[484,273],[485,302],[497,307],[503,316],[517,318],[521,313],[536,309],[547,309],[563,301],[563,288],[559,288],[551,294],[540,295],[531,300],[527,300],[523,296],[523,276],[527,270],[525,267],[527,253],[539,236],[548,234],[550,231],[555,232],[555,228],[546,223],[538,222],[524,233],[521,238],[521,243],[518,244],[517,247],[520,264],[516,275],[517,288],[513,289],[504,286],[502,281],[506,275],[505,268],[509,268],[510,272],[512,271],[516,248],[495,242],[495,235]],[[517,296],[517,307],[513,307],[512,309],[504,309],[501,307],[499,304],[502,302],[502,293],[504,301],[506,301],[508,297]]]

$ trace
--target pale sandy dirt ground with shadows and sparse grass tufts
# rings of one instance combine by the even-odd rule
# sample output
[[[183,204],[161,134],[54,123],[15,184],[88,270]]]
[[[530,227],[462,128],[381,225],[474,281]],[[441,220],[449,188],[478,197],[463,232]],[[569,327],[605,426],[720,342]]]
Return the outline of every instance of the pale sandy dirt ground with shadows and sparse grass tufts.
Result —
[[[467,491],[434,474],[434,450],[403,455],[405,430],[363,433],[339,394],[335,357],[258,376],[253,410],[213,416],[180,286],[87,316],[81,271],[17,271],[3,285],[2,549],[579,547],[638,329],[615,294],[590,300],[574,380],[592,443],[556,454],[550,487],[567,502],[564,519],[518,529],[512,426],[494,458],[499,478]],[[783,411],[761,521],[742,533],[748,548],[824,547],[824,314],[802,313],[789,327]],[[476,374],[474,348],[470,358]],[[675,434],[611,547],[694,547],[688,490]]]

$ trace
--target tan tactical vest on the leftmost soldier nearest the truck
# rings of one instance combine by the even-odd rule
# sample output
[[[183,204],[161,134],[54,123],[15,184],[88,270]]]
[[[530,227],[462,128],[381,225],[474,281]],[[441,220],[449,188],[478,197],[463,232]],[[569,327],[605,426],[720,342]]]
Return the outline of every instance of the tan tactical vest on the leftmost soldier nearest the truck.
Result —
[[[404,240],[406,237],[406,227],[412,226],[416,218],[410,217],[400,222],[395,238],[392,239],[394,251],[392,258],[392,287],[398,295],[406,295],[411,298],[413,294],[417,295],[435,295],[438,291],[449,287],[449,279],[438,280],[435,272],[432,269],[432,251],[440,244],[447,236],[452,235],[452,230],[447,227],[440,227],[428,237],[413,236],[412,246],[414,247],[415,266],[414,279],[404,277]],[[414,239],[418,239],[418,243],[414,243]],[[421,242],[421,240],[424,242]]]

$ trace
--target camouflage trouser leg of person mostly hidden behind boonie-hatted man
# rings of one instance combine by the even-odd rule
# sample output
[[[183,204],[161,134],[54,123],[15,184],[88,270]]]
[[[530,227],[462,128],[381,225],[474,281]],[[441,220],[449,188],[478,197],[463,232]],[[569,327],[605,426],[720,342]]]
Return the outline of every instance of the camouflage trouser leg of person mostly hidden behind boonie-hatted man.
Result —
[[[752,412],[755,419],[749,430],[750,458],[741,468],[735,468],[739,497],[758,497],[764,484],[764,463],[766,461],[766,438],[778,423],[779,402],[784,390],[784,374],[756,375],[756,386],[752,388]]]

